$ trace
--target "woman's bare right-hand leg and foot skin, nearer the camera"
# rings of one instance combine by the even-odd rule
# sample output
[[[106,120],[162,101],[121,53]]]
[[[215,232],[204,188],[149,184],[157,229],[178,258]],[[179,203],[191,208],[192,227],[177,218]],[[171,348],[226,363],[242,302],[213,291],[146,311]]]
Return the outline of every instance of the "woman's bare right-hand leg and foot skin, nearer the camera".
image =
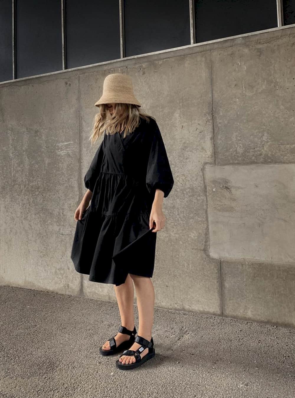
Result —
[[[154,322],[154,286],[150,278],[131,274],[130,276],[134,281],[137,296],[139,315],[138,336],[150,341],[152,337],[152,324]],[[133,343],[129,349],[136,351],[140,346],[139,343]],[[141,357],[143,358],[147,353],[148,348],[143,350]],[[135,357],[122,355],[119,362],[134,363]]]

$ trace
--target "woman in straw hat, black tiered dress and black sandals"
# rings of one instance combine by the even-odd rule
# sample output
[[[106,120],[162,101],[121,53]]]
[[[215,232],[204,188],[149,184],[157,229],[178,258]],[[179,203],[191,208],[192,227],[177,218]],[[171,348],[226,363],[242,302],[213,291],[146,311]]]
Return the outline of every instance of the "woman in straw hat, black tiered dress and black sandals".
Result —
[[[76,271],[89,275],[90,281],[115,285],[121,326],[100,353],[125,350],[116,366],[132,369],[155,355],[150,278],[156,232],[165,226],[163,197],[174,179],[158,125],[140,109],[129,76],[109,74],[95,105],[100,111],[90,140],[93,144],[104,138],[84,177],[87,191],[74,214],[71,258]],[[133,282],[139,312],[136,337]]]

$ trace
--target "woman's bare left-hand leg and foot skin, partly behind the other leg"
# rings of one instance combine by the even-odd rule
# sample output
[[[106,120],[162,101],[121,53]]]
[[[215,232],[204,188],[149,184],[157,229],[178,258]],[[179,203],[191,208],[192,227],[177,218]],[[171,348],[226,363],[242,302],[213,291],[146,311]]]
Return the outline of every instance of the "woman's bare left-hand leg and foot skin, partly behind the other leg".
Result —
[[[133,299],[134,299],[134,288],[133,281],[130,275],[127,275],[125,283],[119,286],[114,286],[116,298],[119,306],[120,316],[121,316],[121,325],[125,326],[128,330],[134,329],[134,308],[133,308]],[[118,332],[115,336],[115,341],[117,346],[123,341],[129,340],[130,336],[128,334],[123,334]],[[109,341],[106,341],[102,346],[103,349],[110,349]]]

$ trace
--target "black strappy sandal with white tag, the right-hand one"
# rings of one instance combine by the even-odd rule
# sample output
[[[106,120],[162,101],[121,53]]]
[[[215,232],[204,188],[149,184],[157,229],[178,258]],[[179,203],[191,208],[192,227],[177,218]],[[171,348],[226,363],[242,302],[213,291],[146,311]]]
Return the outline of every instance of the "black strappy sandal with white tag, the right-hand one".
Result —
[[[155,349],[154,349],[154,341],[151,338],[150,341],[147,339],[144,339],[141,336],[136,336],[135,338],[135,343],[141,344],[141,347],[139,347],[136,351],[132,349],[127,349],[123,352],[123,354],[120,355],[120,358],[123,355],[128,355],[128,356],[135,356],[135,362],[132,363],[122,363],[117,359],[116,361],[116,367],[119,369],[134,369],[137,368],[138,366],[142,365],[143,363],[147,362],[149,359],[152,359],[155,356]],[[148,353],[141,358],[140,354],[148,348]]]

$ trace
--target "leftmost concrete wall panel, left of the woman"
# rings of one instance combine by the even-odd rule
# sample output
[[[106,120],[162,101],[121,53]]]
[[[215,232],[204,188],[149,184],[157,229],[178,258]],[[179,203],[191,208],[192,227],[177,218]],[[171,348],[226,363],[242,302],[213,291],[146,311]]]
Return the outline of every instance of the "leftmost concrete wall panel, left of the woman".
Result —
[[[68,261],[78,193],[75,79],[0,91],[0,283],[77,294]]]

